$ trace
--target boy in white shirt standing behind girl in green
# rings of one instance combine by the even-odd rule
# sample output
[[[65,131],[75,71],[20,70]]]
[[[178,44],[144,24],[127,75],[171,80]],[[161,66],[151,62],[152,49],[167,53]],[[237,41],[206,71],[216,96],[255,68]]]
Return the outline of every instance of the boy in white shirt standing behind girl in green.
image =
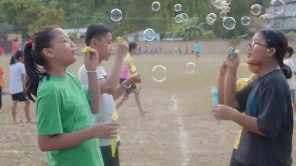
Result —
[[[116,112],[115,101],[123,95],[126,89],[132,84],[140,83],[139,76],[130,77],[118,86],[120,71],[123,64],[124,56],[127,54],[129,47],[128,43],[120,42],[117,46],[116,57],[111,74],[107,74],[101,65],[102,61],[108,61],[113,50],[111,46],[112,33],[111,30],[104,25],[92,24],[87,28],[85,33],[85,44],[98,50],[99,64],[97,67],[97,75],[99,79],[99,86],[101,89],[100,110],[98,114],[93,115],[94,123],[111,122],[111,116]],[[89,71],[92,72],[92,71]],[[87,87],[87,71],[84,65],[78,71],[79,81]],[[118,146],[120,145],[119,134],[117,134],[117,147],[115,156],[111,154],[111,140],[100,139],[100,149],[105,166],[120,166]]]

